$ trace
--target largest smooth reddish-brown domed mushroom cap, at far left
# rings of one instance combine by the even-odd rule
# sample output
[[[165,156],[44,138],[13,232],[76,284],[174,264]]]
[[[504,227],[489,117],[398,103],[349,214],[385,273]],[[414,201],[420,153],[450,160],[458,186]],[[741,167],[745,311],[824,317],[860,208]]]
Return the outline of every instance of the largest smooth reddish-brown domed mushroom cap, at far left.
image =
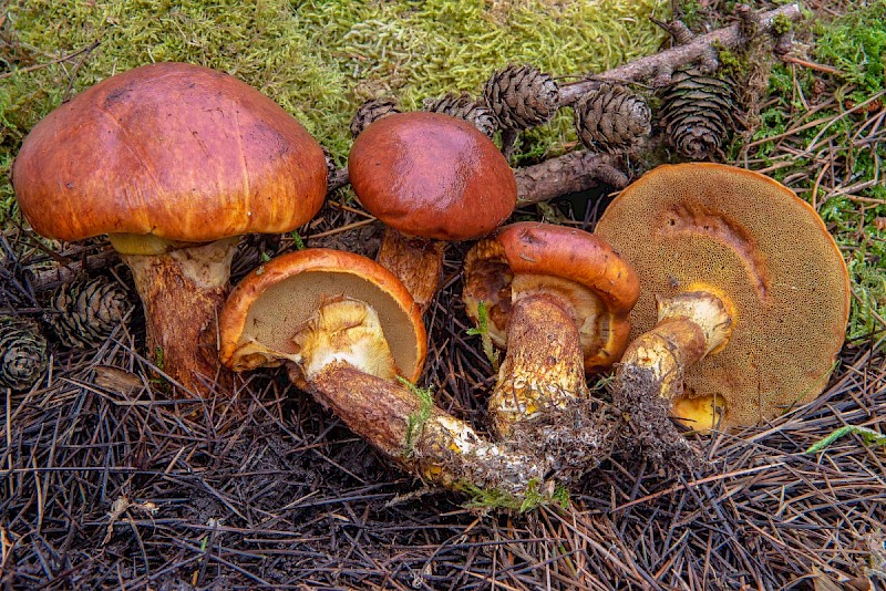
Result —
[[[327,168],[320,145],[257,90],[198,65],[158,63],[55,108],[24,139],[12,179],[41,235],[202,242],[309,221]]]

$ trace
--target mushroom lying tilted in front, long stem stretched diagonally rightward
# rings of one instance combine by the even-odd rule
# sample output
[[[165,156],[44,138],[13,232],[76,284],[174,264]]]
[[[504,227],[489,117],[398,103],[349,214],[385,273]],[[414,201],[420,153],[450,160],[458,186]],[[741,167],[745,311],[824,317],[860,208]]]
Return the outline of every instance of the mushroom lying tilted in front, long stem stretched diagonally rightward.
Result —
[[[517,496],[545,478],[543,459],[484,440],[405,383],[422,372],[424,324],[405,287],[371,259],[281,255],[234,288],[219,324],[225,365],[285,364],[293,384],[416,476]]]

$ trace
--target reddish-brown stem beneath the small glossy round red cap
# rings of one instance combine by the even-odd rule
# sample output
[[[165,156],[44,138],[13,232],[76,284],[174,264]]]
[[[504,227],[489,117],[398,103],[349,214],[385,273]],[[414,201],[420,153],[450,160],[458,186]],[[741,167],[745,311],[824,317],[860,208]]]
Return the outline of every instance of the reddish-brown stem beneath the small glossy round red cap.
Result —
[[[440,240],[406,236],[385,228],[375,260],[394,273],[424,312],[436,293],[443,273],[443,249]]]

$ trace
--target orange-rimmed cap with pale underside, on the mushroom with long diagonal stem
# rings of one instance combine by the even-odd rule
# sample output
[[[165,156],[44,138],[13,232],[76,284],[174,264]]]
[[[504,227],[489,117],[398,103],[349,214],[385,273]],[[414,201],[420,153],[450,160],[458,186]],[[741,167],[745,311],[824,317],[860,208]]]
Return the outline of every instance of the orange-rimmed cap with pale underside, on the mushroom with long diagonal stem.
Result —
[[[261,265],[237,284],[219,317],[222,363],[235,371],[278,365],[297,354],[292,336],[330,298],[372,307],[403,376],[421,376],[427,335],[419,307],[375,261],[331,249],[307,249]]]

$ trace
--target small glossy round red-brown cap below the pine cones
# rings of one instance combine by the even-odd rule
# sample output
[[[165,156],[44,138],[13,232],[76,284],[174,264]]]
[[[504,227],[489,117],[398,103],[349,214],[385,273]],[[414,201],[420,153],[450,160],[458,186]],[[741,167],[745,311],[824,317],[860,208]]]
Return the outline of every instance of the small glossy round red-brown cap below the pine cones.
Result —
[[[396,113],[367,127],[348,157],[351,186],[382,222],[437,240],[478,238],[517,203],[517,183],[492,141],[440,113]]]

